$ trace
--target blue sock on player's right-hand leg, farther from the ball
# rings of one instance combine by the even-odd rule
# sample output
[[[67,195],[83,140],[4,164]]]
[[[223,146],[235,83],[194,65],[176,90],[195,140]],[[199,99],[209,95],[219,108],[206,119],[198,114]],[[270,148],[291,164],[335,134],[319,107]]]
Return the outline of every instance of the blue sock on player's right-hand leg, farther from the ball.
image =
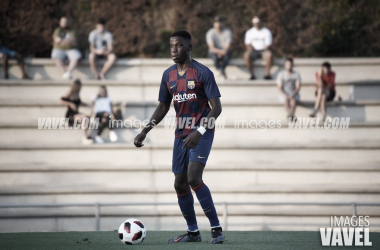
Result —
[[[210,189],[208,189],[208,187],[202,181],[198,186],[193,188],[193,190],[197,195],[198,201],[201,204],[203,212],[210,221],[211,227],[220,226],[214,202],[212,201]]]

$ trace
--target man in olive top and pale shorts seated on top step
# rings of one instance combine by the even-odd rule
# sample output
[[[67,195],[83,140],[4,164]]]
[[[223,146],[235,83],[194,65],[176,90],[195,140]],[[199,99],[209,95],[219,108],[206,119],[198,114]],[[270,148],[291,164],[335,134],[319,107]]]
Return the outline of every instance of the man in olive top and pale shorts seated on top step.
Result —
[[[68,26],[66,17],[62,17],[59,21],[59,27],[53,33],[53,51],[51,58],[54,60],[57,67],[63,72],[63,79],[71,79],[72,72],[81,58],[81,53],[76,49],[77,41],[73,30]],[[65,69],[64,59],[68,57],[70,60],[69,67]]]

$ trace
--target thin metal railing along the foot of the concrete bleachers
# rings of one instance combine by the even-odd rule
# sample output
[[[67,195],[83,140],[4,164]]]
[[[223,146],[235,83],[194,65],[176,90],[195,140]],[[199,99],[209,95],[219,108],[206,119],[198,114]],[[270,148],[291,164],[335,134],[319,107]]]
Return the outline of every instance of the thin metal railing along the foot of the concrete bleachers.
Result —
[[[358,206],[380,206],[380,203],[366,202],[215,202],[215,205],[223,206],[223,228],[228,228],[228,206],[351,206],[352,216],[357,215]],[[64,203],[64,204],[10,204],[0,205],[1,208],[52,208],[52,207],[94,207],[95,208],[95,230],[100,229],[101,207],[112,206],[161,206],[178,205],[177,202],[120,202],[120,203]],[[199,205],[199,203],[195,203]]]

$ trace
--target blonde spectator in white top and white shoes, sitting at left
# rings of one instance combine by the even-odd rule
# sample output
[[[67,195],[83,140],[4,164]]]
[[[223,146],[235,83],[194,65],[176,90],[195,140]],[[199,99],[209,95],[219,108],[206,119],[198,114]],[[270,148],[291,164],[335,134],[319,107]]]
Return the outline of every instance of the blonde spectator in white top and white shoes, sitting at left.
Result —
[[[117,135],[113,131],[111,126],[112,120],[115,119],[113,115],[112,100],[108,97],[106,86],[100,86],[98,95],[94,97],[92,102],[92,112],[95,114],[95,118],[99,119],[98,131],[95,137],[96,143],[104,143],[103,139],[100,137],[105,128],[109,128],[110,141],[117,141]]]

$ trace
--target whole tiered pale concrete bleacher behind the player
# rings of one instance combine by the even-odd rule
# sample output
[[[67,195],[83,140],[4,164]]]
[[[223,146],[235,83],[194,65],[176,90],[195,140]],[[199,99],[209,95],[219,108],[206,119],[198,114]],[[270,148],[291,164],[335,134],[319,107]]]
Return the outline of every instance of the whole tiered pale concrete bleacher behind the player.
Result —
[[[325,60],[337,73],[337,93],[343,99],[329,104],[328,115],[350,117],[349,129],[291,130],[274,80],[247,81],[240,59],[228,67],[230,80],[216,74],[226,127],[216,131],[204,174],[214,201],[380,201],[380,59],[295,59],[303,79],[297,116],[310,114],[314,73]],[[214,70],[211,60],[199,61]],[[282,63],[275,60],[274,76]],[[38,130],[38,117],[65,114],[59,98],[70,81],[60,79],[49,59],[27,64],[33,80],[18,80],[15,65],[11,80],[0,80],[0,204],[176,202],[170,171],[173,130],[159,125],[141,149],[133,147],[135,128],[117,129],[117,143],[87,146],[78,130]],[[167,59],[119,60],[108,74],[110,80],[96,81],[82,62],[74,76],[83,79],[83,101],[90,102],[105,84],[123,119],[143,120],[153,112],[162,71],[171,64]],[[256,66],[261,77],[261,62]],[[281,127],[235,129],[238,119],[279,120]],[[217,209],[222,212],[221,206]],[[207,228],[199,206],[196,211],[200,226]],[[335,206],[230,206],[228,211],[230,230],[316,230],[327,226],[331,215],[352,213],[350,207]],[[374,230],[379,230],[379,211],[358,208],[358,214],[371,216]],[[131,216],[149,229],[183,229],[176,206],[150,206],[102,208],[101,230],[113,230]],[[92,230],[93,217],[93,208],[0,209],[0,232]]]

